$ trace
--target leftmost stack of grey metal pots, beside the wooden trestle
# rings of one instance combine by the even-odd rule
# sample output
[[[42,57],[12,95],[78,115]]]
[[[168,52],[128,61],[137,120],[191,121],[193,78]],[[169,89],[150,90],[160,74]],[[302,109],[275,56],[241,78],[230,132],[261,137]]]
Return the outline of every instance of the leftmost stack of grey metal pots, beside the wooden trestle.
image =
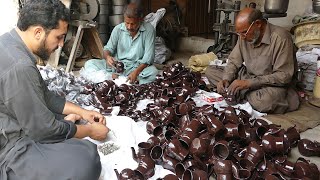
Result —
[[[96,17],[96,21],[98,23],[98,32],[100,39],[105,45],[110,36],[109,30],[109,14],[110,14],[110,0],[98,0],[99,1],[99,15]],[[110,1],[110,2],[109,2]]]

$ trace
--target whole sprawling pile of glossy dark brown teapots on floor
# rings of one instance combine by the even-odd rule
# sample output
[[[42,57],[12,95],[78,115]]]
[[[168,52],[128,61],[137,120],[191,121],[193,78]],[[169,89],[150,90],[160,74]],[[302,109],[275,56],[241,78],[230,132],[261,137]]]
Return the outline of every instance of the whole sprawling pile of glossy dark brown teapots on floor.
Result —
[[[163,179],[319,179],[318,167],[299,158],[287,159],[298,145],[304,156],[320,156],[320,144],[300,140],[295,127],[287,130],[252,118],[245,110],[214,105],[197,107],[191,99],[205,89],[201,74],[190,72],[181,63],[173,64],[147,85],[115,85],[113,81],[88,84],[83,93],[91,94],[90,105],[108,114],[120,106],[120,115],[147,121],[151,137],[132,147],[136,169],[123,169],[119,180],[148,179],[155,165],[172,171]],[[153,99],[142,111],[141,99]]]

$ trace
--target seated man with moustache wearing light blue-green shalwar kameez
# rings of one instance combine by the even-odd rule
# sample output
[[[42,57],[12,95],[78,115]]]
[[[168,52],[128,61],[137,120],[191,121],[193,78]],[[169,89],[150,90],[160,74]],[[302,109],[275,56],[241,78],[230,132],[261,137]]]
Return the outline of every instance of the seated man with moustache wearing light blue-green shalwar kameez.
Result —
[[[124,64],[123,75],[130,83],[150,83],[155,80],[158,70],[153,66],[155,56],[155,29],[143,21],[142,9],[130,3],[124,10],[124,22],[112,30],[104,47],[106,60],[92,59],[85,63],[89,72],[106,70],[114,72],[115,61]],[[117,75],[113,74],[113,78]]]

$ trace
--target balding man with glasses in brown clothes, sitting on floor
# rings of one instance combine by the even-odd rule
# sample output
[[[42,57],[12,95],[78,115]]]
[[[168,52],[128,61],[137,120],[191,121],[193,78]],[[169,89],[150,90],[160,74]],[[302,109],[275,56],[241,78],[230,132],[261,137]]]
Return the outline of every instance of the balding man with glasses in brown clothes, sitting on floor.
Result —
[[[296,110],[300,102],[292,84],[297,62],[290,33],[252,8],[239,12],[235,30],[239,39],[217,83],[218,93],[236,95],[260,112]]]

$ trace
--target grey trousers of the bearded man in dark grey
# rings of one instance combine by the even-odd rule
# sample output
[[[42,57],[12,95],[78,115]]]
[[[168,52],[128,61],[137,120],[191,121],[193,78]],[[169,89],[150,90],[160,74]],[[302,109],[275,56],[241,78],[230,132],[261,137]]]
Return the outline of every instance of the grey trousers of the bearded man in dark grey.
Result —
[[[74,138],[53,144],[18,142],[1,163],[1,180],[97,180],[101,173],[96,145]]]

